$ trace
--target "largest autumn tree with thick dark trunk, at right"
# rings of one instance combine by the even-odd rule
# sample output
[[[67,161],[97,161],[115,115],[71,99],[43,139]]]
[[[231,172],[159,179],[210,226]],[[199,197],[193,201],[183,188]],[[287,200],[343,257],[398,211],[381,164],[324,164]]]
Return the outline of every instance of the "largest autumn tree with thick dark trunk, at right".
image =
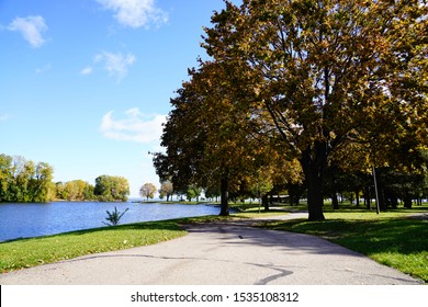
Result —
[[[309,219],[324,219],[336,150],[363,141],[374,164],[427,144],[427,10],[420,0],[244,0],[213,15],[204,47],[252,80],[247,110],[301,162]]]

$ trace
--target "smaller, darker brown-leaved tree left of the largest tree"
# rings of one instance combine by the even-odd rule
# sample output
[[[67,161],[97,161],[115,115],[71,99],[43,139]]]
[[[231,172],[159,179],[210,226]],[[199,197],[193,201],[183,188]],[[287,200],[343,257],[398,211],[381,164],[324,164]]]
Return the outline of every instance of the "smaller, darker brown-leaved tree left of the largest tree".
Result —
[[[189,71],[190,81],[171,100],[173,110],[161,138],[167,151],[154,158],[160,179],[171,180],[177,191],[185,194],[189,185],[221,191],[221,215],[229,214],[230,191],[275,161],[274,147],[260,137],[264,126],[259,116],[243,104],[250,84],[236,78],[237,69],[227,62],[201,61],[199,69]]]

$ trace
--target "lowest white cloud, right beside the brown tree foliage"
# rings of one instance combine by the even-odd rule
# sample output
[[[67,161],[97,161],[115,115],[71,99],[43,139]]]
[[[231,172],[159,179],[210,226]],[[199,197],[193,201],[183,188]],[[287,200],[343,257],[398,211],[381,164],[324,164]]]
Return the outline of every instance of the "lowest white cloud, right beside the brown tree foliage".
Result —
[[[159,141],[166,115],[145,115],[138,107],[129,109],[123,118],[113,118],[113,111],[102,117],[100,130],[106,137],[115,140],[149,144]]]

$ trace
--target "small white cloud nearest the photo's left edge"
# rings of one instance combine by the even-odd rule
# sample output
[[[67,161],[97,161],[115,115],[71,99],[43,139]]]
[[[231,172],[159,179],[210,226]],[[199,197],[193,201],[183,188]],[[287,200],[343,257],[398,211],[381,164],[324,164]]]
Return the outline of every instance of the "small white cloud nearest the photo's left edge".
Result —
[[[47,25],[42,16],[15,18],[8,30],[21,32],[24,39],[34,48],[42,47],[46,42],[42,33],[47,31]]]

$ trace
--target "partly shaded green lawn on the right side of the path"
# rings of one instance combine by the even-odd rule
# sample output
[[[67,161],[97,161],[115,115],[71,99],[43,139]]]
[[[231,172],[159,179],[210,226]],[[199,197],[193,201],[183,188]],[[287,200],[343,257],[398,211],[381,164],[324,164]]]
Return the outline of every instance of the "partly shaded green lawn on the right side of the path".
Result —
[[[401,212],[325,215],[325,221],[295,219],[263,227],[323,237],[428,283],[428,220]]]

